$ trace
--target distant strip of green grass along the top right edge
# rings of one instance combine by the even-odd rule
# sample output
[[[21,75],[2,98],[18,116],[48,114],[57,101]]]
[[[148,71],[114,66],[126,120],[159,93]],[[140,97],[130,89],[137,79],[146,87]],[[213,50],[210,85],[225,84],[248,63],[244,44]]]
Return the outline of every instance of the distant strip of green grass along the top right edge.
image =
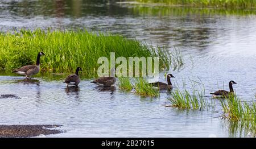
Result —
[[[255,0],[129,0],[141,3],[163,3],[164,5],[188,5],[197,7],[225,7],[230,9],[253,8]]]

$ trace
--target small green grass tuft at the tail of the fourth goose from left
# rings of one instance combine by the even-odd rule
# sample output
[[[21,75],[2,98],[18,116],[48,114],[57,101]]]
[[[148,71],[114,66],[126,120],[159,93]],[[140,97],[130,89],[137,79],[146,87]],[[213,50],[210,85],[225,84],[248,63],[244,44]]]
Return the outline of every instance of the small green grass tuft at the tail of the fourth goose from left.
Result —
[[[133,88],[135,89],[136,93],[141,96],[160,96],[159,89],[155,89],[152,85],[148,84],[148,82],[142,77],[135,78]]]

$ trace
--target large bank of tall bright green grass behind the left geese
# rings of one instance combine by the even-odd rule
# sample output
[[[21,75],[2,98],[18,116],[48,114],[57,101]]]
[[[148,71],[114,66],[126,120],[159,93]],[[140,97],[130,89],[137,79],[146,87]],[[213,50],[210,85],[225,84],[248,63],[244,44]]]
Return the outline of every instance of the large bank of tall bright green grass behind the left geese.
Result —
[[[0,69],[11,70],[27,64],[35,64],[39,51],[42,57],[41,70],[50,72],[74,72],[80,66],[84,73],[93,76],[101,56],[115,57],[159,56],[159,68],[169,69],[171,53],[163,48],[154,48],[137,40],[120,35],[87,31],[35,31],[0,33]]]

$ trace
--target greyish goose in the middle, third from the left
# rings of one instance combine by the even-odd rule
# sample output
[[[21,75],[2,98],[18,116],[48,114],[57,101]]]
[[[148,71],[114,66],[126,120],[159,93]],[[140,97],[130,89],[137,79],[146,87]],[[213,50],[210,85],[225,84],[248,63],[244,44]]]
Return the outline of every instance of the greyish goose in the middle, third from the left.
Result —
[[[112,68],[110,71],[111,76],[110,77],[99,77],[93,80],[91,83],[97,84],[97,85],[103,85],[105,87],[112,86],[116,79],[115,79],[115,68]],[[113,77],[112,77],[113,76]]]

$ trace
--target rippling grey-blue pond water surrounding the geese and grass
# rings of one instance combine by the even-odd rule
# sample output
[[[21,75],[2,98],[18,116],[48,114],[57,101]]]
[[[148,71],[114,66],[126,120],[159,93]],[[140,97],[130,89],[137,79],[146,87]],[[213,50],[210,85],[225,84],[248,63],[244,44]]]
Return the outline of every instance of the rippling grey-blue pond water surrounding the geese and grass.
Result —
[[[205,84],[205,93],[218,88],[234,90],[243,101],[255,100],[255,10],[200,10],[180,7],[137,6],[115,1],[1,1],[0,31],[40,27],[47,30],[86,28],[110,31],[152,45],[175,45],[185,66],[174,74],[176,88],[188,78]],[[1,73],[0,123],[58,124],[67,133],[49,137],[159,136],[238,137],[232,124],[222,120],[220,101],[215,112],[179,110],[168,105],[167,93],[143,98],[115,88],[102,89],[82,78],[80,88],[67,89],[67,74],[38,74],[33,82]],[[160,81],[165,81],[163,73]]]

